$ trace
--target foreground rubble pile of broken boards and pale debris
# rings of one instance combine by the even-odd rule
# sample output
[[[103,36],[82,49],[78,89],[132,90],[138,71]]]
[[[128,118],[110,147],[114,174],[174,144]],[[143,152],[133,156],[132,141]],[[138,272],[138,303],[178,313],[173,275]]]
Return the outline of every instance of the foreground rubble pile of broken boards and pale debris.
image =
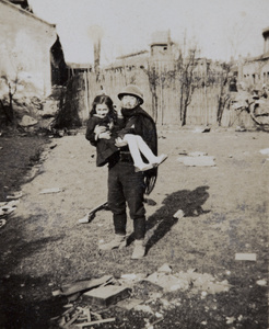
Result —
[[[144,284],[148,293],[141,294],[145,290],[139,287]],[[60,328],[83,328],[116,321],[116,317],[104,318],[101,314],[117,307],[144,313],[145,328],[153,328],[164,319],[165,310],[182,303],[180,298],[175,297],[168,300],[165,294],[191,290],[192,293],[200,294],[200,298],[206,298],[209,294],[229,292],[230,287],[232,285],[226,280],[219,282],[212,275],[198,273],[196,270],[174,273],[165,263],[150,275],[130,273],[122,274],[117,280],[112,275],[104,275],[65,285],[52,292],[52,295],[67,297],[68,310],[50,320]]]

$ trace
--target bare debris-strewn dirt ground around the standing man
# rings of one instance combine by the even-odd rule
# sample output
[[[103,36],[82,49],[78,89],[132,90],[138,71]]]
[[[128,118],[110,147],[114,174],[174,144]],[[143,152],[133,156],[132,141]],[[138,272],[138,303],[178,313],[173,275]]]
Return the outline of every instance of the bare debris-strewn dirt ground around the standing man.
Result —
[[[102,316],[116,320],[98,328],[147,328],[156,313],[163,318],[154,328],[268,328],[269,161],[259,152],[268,147],[265,132],[160,127],[159,149],[168,159],[145,205],[147,256],[138,261],[130,259],[131,238],[122,250],[98,251],[113,235],[109,211],[78,223],[107,194],[107,168],[96,168],[83,129],[62,138],[2,135],[0,202],[19,190],[23,196],[0,228],[0,328],[57,328],[49,319],[62,314],[68,300],[52,292],[63,284],[104,274],[151,274],[164,263],[175,273],[196,269],[232,286],[207,295],[177,290],[164,295],[176,303],[165,308],[154,300],[153,314],[113,306]],[[192,151],[214,156],[215,166],[177,160]],[[54,188],[59,192],[40,194]],[[178,209],[185,216],[177,220]],[[256,260],[238,261],[236,253],[255,253]],[[150,293],[143,287],[140,297],[147,300]]]

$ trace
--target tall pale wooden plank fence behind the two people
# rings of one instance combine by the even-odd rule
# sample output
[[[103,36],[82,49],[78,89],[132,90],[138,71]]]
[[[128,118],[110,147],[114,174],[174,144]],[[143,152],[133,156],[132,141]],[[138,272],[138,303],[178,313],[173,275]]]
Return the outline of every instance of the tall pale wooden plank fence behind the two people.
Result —
[[[94,72],[83,72],[75,77],[80,80],[80,89],[74,95],[78,101],[79,115],[84,124],[89,118],[91,105],[95,95],[101,91],[109,94],[116,106],[120,106],[117,94],[129,83],[137,84],[144,95],[143,109],[155,120],[159,125],[180,126],[179,101],[180,82],[175,78],[157,79],[155,83],[157,95],[157,109],[152,106],[152,93],[147,72],[142,69],[130,71],[101,72],[98,77]],[[187,125],[217,125],[217,111],[220,97],[220,84],[197,88],[192,94],[187,110]],[[250,116],[244,111],[238,112],[224,109],[221,126],[235,125],[253,126]]]

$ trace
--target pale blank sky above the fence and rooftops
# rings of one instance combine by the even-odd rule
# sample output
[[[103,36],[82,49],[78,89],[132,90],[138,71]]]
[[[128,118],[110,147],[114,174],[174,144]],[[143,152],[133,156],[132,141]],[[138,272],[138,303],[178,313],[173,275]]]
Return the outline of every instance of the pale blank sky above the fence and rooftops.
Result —
[[[264,50],[269,0],[28,0],[34,13],[57,24],[66,61],[93,63],[102,36],[101,61],[149,49],[152,33],[196,41],[201,56],[227,60]]]

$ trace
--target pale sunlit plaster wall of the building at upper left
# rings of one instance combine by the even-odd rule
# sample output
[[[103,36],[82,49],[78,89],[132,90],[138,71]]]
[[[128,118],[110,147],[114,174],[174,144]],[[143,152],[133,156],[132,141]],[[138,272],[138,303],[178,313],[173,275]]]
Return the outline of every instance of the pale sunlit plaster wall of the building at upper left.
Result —
[[[0,72],[12,83],[19,78],[19,91],[50,93],[49,50],[56,38],[55,25],[0,0]]]

